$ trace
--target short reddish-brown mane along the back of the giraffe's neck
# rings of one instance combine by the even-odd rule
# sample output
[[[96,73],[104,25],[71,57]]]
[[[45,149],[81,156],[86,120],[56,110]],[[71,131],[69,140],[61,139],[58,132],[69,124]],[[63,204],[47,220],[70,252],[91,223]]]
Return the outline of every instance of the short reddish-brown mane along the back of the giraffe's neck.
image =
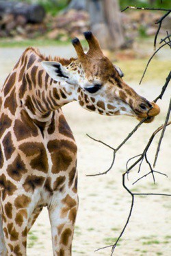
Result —
[[[44,54],[41,54],[40,50],[36,47],[27,47],[27,49],[25,49],[25,53],[27,51],[33,51],[34,54],[38,55],[42,60],[45,61],[57,61],[60,62],[62,65],[67,66],[70,65],[70,62],[73,62],[74,60],[77,60],[77,58],[70,58],[70,59],[66,59],[66,58],[60,58],[59,56],[45,56]]]

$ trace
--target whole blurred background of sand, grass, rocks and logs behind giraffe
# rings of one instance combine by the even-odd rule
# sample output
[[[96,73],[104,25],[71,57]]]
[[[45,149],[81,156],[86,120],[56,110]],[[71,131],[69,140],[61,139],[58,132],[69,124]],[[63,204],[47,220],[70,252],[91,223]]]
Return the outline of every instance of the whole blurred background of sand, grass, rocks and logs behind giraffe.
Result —
[[[161,91],[170,72],[170,47],[157,53],[148,67],[142,85],[140,78],[150,56],[154,53],[153,41],[158,25],[155,24],[166,12],[145,10],[120,10],[127,5],[152,8],[171,8],[170,0],[0,0],[0,84],[13,69],[28,46],[38,47],[49,56],[75,57],[70,39],[77,36],[88,49],[83,32],[92,30],[108,56],[124,73],[124,81],[137,93],[152,101]],[[160,38],[171,33],[171,16],[163,21]],[[131,140],[117,153],[116,163],[105,176],[88,177],[107,170],[112,152],[86,137],[86,133],[116,148],[137,125],[131,117],[105,117],[83,110],[77,102],[64,106],[64,114],[73,130],[78,145],[79,213],[77,216],[73,255],[110,255],[111,249],[94,253],[96,248],[114,244],[124,226],[131,198],[122,187],[122,173],[127,160],[140,154],[150,135],[163,124],[170,100],[170,87],[157,102],[161,113],[151,124],[143,124]],[[168,174],[152,176],[140,183],[133,181],[149,172],[133,170],[127,185],[137,193],[170,191],[170,126],[161,143],[156,170]],[[148,153],[153,161],[159,135]],[[168,197],[135,198],[135,207],[129,226],[116,248],[116,256],[170,256],[171,251],[171,204]],[[53,255],[51,227],[47,209],[44,209],[29,232],[28,256]]]

